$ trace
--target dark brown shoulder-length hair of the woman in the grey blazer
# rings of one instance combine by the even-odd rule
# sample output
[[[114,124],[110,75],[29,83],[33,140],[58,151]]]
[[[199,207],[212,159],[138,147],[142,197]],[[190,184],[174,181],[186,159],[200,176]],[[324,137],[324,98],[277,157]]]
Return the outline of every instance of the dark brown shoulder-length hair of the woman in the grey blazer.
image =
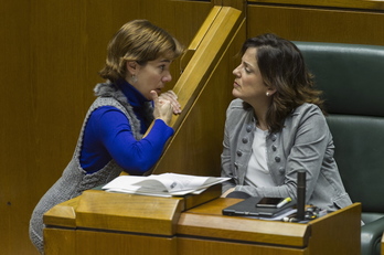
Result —
[[[286,117],[305,103],[314,104],[323,110],[322,92],[313,87],[313,75],[292,42],[266,33],[246,40],[242,53],[248,47],[257,49],[255,57],[264,83],[276,89],[266,116],[270,131],[281,130]],[[247,103],[244,106],[250,107]]]

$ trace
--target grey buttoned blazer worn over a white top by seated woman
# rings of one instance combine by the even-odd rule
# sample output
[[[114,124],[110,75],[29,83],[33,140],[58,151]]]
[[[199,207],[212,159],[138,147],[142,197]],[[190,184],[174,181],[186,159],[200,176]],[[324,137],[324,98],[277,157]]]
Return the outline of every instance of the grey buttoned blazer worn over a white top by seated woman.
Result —
[[[256,119],[243,100],[234,99],[226,113],[222,177],[232,178],[223,192],[234,188],[254,196],[290,196],[297,199],[297,171],[307,171],[307,204],[328,211],[350,205],[338,166],[333,159],[333,140],[318,106],[303,104],[285,120],[281,131],[267,136],[267,163],[276,184],[273,188],[245,183]]]

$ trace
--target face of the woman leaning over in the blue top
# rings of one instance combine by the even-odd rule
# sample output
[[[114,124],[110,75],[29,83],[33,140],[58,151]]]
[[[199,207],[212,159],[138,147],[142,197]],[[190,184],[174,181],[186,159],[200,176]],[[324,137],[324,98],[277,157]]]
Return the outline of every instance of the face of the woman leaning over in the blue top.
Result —
[[[137,81],[131,85],[151,100],[151,91],[156,91],[159,95],[166,83],[172,81],[169,70],[171,62],[171,60],[159,57],[154,61],[148,61],[146,65],[136,63],[135,76]]]

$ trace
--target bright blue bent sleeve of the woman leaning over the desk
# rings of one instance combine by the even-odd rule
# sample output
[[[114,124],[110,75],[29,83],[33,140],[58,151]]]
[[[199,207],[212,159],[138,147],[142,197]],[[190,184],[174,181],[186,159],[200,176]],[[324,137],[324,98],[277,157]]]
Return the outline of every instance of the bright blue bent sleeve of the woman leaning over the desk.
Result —
[[[93,114],[94,139],[99,139],[104,149],[129,174],[142,174],[150,170],[173,135],[171,127],[157,119],[147,137],[136,140],[127,117],[119,109],[107,107]]]

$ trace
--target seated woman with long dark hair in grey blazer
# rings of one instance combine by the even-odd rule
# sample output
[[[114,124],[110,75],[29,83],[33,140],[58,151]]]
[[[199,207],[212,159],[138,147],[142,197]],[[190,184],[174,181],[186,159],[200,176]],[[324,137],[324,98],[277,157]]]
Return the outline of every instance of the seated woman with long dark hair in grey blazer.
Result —
[[[299,49],[275,34],[248,39],[233,71],[234,99],[226,113],[223,196],[297,199],[306,171],[308,204],[334,211],[351,204],[333,158],[321,92]]]

